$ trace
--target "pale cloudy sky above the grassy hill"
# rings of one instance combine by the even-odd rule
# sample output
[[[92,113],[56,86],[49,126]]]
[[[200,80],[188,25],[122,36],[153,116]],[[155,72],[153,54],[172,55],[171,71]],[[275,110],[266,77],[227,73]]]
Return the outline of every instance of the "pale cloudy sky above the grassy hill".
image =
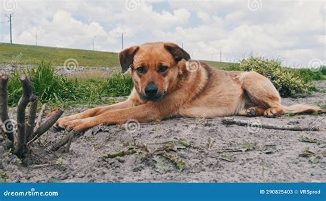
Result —
[[[285,66],[326,64],[325,0],[0,0],[0,42],[120,51],[151,41],[184,45],[195,59],[263,56]],[[95,38],[94,38],[95,37]]]

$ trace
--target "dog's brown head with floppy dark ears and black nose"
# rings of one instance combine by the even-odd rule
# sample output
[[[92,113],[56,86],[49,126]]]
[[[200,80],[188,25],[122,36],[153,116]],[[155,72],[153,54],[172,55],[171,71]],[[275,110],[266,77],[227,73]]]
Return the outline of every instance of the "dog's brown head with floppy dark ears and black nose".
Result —
[[[119,54],[122,72],[131,69],[133,84],[140,97],[155,101],[177,84],[190,56],[173,43],[145,43]]]

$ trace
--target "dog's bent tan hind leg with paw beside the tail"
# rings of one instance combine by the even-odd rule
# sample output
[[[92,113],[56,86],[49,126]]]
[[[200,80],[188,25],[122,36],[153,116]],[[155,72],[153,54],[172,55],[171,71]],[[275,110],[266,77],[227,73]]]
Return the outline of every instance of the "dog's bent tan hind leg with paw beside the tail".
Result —
[[[250,113],[265,117],[277,117],[284,114],[279,92],[268,78],[256,72],[248,72],[243,76],[242,81],[243,90],[250,102],[255,105],[254,112],[251,112],[252,108],[248,108],[249,116]]]

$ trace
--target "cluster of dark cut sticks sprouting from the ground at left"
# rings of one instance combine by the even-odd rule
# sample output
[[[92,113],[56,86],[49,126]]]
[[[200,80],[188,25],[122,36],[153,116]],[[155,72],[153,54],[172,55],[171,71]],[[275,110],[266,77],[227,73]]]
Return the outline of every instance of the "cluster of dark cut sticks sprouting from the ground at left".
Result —
[[[8,76],[1,75],[1,90],[0,90],[0,113],[2,121],[2,131],[8,139],[12,142],[12,151],[19,158],[22,158],[26,154],[26,145],[32,143],[36,139],[39,139],[42,134],[49,130],[52,125],[63,114],[63,110],[60,108],[47,118],[46,121],[41,123],[43,111],[45,105],[43,105],[41,112],[39,113],[38,121],[36,123],[36,110],[38,104],[38,98],[33,94],[33,83],[31,78],[27,78],[25,75],[20,75],[19,80],[23,89],[23,95],[19,99],[17,106],[17,133],[14,130],[14,122],[8,115]],[[30,104],[30,110],[26,122],[26,108]],[[17,136],[17,137],[16,137]],[[16,141],[17,139],[17,141]]]

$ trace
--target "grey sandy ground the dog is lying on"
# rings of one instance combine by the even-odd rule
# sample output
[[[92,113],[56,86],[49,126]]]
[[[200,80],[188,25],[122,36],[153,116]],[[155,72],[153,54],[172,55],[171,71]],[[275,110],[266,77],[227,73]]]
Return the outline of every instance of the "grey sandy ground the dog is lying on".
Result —
[[[325,81],[316,85],[325,92]],[[283,99],[303,102],[325,105],[326,93]],[[222,118],[96,126],[76,137],[69,152],[43,147],[64,136],[51,129],[23,161],[2,141],[0,176],[7,182],[326,182],[325,116],[235,117],[321,128],[304,132],[226,126]]]

